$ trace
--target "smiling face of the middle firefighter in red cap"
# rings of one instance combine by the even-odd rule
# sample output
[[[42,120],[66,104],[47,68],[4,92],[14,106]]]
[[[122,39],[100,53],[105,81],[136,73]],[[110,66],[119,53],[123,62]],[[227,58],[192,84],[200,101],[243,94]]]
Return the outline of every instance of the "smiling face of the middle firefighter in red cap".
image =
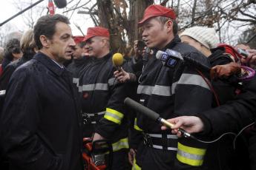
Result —
[[[100,55],[102,55],[102,47],[103,44],[103,38],[99,36],[95,36],[93,38],[88,39],[86,41],[85,49],[88,51],[89,57],[96,57],[98,58]]]

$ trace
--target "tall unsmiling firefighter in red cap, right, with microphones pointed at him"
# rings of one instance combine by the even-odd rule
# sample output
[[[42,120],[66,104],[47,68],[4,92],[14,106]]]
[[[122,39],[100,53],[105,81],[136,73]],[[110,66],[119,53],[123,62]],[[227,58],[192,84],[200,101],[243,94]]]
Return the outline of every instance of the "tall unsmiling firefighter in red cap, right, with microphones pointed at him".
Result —
[[[209,66],[207,58],[193,47],[180,42],[174,10],[157,4],[146,8],[142,21],[142,38],[154,50],[171,49],[197,59]],[[194,67],[180,65],[165,67],[155,56],[140,76],[137,89],[140,103],[159,113],[162,118],[193,115],[211,108],[211,90]],[[136,158],[134,169],[200,169],[206,146],[195,140],[177,139],[170,131],[144,115],[137,114],[137,127],[143,134],[143,155]],[[193,151],[193,152],[191,152]]]

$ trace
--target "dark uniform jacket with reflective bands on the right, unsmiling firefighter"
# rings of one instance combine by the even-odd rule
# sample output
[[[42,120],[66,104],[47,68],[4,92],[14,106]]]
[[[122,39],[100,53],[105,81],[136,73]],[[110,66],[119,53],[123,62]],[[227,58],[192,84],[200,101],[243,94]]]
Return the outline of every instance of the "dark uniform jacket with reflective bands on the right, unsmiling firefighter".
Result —
[[[181,43],[178,36],[165,49],[176,50],[209,66],[203,54]],[[162,61],[151,58],[140,81],[137,89],[140,103],[162,118],[194,115],[211,108],[211,90],[192,66],[168,68]],[[178,143],[176,135],[171,135],[170,130],[161,131],[160,124],[145,115],[137,114],[137,126],[145,133],[143,157],[138,160],[142,169],[193,169],[202,165],[206,146],[185,138]]]

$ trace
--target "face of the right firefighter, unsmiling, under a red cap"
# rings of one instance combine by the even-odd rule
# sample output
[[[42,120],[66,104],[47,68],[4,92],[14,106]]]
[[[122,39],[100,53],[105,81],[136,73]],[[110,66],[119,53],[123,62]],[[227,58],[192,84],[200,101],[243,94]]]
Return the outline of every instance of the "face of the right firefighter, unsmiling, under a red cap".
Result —
[[[162,49],[168,44],[168,30],[156,18],[150,18],[142,25],[142,39],[147,47]]]

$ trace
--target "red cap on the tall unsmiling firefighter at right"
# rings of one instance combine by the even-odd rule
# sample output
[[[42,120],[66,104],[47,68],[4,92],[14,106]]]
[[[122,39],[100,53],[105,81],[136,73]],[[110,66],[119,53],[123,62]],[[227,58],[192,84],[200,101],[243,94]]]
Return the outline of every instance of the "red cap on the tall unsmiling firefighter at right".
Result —
[[[141,24],[143,24],[149,18],[152,18],[155,16],[165,16],[171,19],[176,18],[176,15],[173,9],[168,7],[163,7],[160,4],[151,4],[145,9],[144,16],[142,20],[139,22],[139,26],[141,26]]]

